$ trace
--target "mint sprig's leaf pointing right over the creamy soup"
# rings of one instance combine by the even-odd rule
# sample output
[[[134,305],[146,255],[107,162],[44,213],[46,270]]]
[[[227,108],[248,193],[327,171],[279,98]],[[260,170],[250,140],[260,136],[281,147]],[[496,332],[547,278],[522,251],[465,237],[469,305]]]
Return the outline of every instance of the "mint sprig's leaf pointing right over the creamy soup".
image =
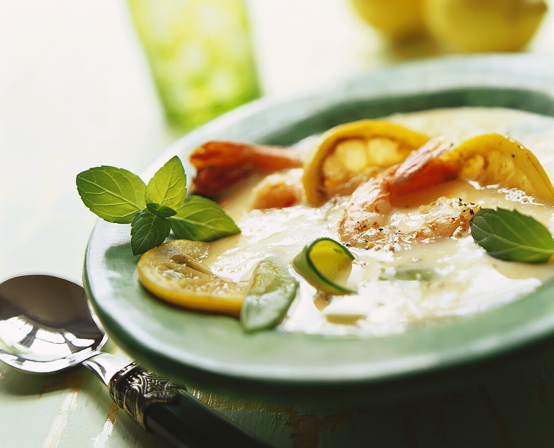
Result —
[[[237,224],[213,200],[189,196],[177,214],[168,218],[177,238],[213,241],[240,233]]]

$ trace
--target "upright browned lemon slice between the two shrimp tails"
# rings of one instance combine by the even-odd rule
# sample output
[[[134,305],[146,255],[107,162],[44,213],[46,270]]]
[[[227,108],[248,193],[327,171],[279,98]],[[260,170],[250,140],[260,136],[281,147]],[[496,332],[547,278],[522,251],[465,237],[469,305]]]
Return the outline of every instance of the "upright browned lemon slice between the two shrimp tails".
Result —
[[[306,199],[321,205],[350,194],[366,179],[403,161],[429,137],[396,123],[362,120],[325,132],[304,163]]]

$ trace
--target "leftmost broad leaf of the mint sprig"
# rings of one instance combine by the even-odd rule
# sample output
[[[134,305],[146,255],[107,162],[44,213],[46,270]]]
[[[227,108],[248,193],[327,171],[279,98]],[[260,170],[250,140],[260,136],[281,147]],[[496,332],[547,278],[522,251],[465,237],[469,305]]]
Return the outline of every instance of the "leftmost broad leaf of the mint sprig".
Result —
[[[110,223],[129,224],[146,203],[146,185],[136,174],[122,168],[87,169],[75,180],[83,203]]]

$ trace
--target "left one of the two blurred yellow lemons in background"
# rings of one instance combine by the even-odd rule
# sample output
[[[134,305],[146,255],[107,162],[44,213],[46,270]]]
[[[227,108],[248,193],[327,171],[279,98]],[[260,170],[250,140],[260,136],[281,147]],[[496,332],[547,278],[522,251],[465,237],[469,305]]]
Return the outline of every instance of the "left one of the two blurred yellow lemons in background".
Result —
[[[392,37],[424,29],[423,0],[350,0],[358,15]]]

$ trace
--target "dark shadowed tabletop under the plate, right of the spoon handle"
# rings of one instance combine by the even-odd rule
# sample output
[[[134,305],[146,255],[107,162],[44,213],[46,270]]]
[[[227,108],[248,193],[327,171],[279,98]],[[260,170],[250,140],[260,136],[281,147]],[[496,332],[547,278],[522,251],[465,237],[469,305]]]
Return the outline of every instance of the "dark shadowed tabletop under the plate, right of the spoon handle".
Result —
[[[200,394],[276,446],[551,447],[554,445],[554,340],[452,377],[391,384],[365,403],[324,406],[268,398],[222,400]],[[392,393],[392,396],[386,396]],[[271,422],[268,415],[274,415]]]

